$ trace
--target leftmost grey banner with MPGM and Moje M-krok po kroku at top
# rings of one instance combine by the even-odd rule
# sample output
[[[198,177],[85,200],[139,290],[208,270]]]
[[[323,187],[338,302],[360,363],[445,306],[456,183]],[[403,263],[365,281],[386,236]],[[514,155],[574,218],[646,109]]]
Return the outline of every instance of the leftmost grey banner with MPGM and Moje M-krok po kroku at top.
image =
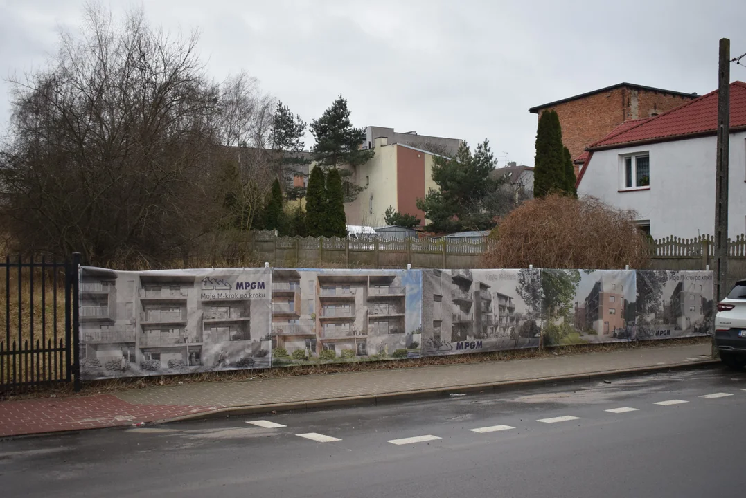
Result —
[[[271,288],[264,268],[84,266],[81,374],[104,379],[268,368]]]

